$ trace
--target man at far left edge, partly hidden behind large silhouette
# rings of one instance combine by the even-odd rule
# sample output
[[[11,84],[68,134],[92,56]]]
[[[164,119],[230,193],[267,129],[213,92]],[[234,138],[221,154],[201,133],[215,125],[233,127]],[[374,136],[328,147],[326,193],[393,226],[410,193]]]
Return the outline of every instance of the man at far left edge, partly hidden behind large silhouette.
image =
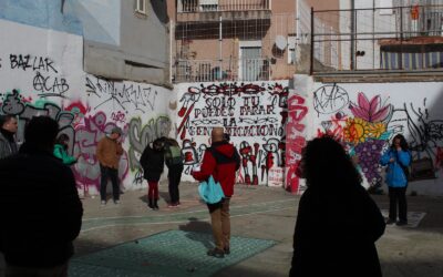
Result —
[[[13,115],[0,115],[0,158],[16,154],[19,150],[14,134],[18,130],[17,119]]]

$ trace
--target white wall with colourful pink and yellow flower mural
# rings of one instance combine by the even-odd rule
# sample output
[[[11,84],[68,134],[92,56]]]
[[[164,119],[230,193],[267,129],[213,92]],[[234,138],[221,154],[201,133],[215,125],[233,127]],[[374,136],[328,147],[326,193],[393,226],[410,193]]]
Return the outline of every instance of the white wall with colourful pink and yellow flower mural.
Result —
[[[311,98],[311,135],[344,142],[367,186],[385,187],[379,158],[402,133],[413,155],[410,191],[443,194],[443,83],[315,83]]]

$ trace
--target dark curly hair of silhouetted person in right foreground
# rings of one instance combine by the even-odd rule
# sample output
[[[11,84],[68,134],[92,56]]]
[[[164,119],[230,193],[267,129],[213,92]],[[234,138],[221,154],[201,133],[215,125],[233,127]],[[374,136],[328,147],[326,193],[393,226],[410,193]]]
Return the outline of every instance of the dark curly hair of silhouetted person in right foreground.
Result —
[[[343,146],[330,136],[308,142],[301,158],[308,187],[332,192],[361,184],[361,176]]]

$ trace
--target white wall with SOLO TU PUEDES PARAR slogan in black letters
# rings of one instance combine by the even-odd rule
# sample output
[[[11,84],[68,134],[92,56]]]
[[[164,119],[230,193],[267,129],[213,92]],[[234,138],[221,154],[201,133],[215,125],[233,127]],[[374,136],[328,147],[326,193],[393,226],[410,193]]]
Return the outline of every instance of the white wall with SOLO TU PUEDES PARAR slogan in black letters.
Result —
[[[210,131],[224,126],[237,147],[238,183],[282,186],[288,117],[288,81],[182,83],[177,92],[177,134],[185,155],[185,181],[210,145]]]

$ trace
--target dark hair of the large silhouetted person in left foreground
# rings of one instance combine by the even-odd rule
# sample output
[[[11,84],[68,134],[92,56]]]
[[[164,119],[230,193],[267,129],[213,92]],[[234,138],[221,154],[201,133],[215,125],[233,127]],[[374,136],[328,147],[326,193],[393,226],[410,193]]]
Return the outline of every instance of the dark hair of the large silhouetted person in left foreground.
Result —
[[[59,123],[49,116],[34,116],[24,129],[24,142],[38,148],[49,148],[55,143]]]

